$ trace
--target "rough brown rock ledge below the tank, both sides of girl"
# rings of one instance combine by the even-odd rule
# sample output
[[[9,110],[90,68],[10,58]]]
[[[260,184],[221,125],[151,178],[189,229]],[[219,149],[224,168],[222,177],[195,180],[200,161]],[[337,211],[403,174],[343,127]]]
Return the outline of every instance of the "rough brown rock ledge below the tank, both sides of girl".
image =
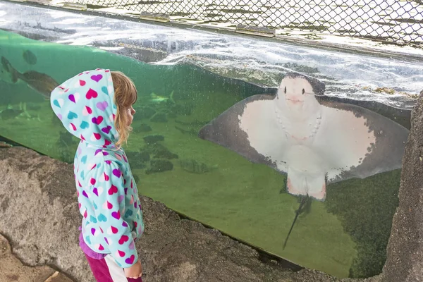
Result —
[[[82,216],[72,164],[12,147],[0,150],[0,171],[0,232],[11,239],[14,253],[28,266],[49,264],[75,281],[94,282],[78,245]],[[142,193],[142,180],[137,184]],[[146,228],[136,247],[145,282],[359,281],[290,271],[219,231],[180,219],[164,204],[149,197],[140,200]]]

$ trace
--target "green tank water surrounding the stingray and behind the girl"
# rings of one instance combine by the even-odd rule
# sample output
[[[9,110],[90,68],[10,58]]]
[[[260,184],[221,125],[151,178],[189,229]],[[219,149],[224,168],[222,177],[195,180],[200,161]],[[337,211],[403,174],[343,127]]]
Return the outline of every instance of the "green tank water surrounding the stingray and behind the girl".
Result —
[[[35,64],[25,61],[27,50],[36,56]],[[299,216],[283,250],[299,206],[298,197],[281,192],[286,177],[196,136],[204,123],[241,99],[259,94],[260,87],[194,66],[153,66],[99,49],[39,42],[3,31],[0,56],[21,73],[46,73],[59,83],[94,68],[123,71],[132,78],[139,99],[125,151],[142,195],[301,266],[338,277],[380,273],[398,205],[399,170],[329,185],[326,202],[312,202]],[[176,105],[152,102],[152,92],[163,97],[173,92]],[[21,109],[23,102],[28,115],[4,116],[0,135],[72,162],[79,140],[54,117],[49,102],[24,82],[13,83],[1,74],[0,111],[8,106]],[[151,131],[145,131],[147,125]],[[147,135],[164,136],[159,144],[166,154],[155,159],[167,166],[170,162],[171,170],[149,173],[149,161],[139,154],[145,150],[143,137]],[[178,159],[166,159],[174,154]],[[183,164],[202,163],[210,171],[192,172],[181,160]]]

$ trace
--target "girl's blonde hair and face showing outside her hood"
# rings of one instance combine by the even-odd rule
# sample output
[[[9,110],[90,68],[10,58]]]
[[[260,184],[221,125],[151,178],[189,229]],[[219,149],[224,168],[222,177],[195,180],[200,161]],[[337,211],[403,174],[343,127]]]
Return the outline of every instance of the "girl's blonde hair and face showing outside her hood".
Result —
[[[114,103],[117,113],[115,118],[115,127],[119,134],[116,147],[119,149],[123,143],[126,143],[132,127],[128,126],[128,114],[126,111],[137,102],[137,88],[134,82],[120,71],[111,71],[111,79],[114,85]]]

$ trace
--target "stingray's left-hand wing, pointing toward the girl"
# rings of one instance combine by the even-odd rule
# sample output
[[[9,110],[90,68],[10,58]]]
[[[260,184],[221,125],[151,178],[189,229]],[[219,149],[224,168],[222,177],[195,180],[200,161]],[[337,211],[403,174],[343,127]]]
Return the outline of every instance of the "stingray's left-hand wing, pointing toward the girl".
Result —
[[[285,137],[271,127],[274,116],[269,115],[269,104],[273,99],[274,96],[266,94],[243,99],[204,125],[199,137],[231,149],[253,163],[286,172],[285,166],[276,161],[282,159],[277,156],[283,154]],[[265,148],[260,148],[262,154],[251,146],[252,138]]]

